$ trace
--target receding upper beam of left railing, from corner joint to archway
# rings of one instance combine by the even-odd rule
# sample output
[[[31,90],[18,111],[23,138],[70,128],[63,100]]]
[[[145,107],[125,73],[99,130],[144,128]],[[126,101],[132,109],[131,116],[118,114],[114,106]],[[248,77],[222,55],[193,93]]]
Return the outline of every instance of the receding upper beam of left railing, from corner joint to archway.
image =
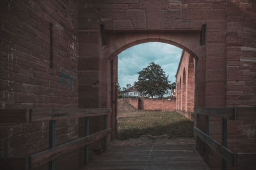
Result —
[[[31,109],[31,122],[83,118],[111,114],[111,108],[93,109]]]

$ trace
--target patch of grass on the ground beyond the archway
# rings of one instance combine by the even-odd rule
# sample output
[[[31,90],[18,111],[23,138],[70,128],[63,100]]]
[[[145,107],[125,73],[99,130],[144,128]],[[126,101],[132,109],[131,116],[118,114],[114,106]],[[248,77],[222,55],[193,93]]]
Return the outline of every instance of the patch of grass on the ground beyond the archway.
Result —
[[[118,138],[137,138],[141,135],[192,137],[193,121],[179,113],[162,111],[118,112]]]

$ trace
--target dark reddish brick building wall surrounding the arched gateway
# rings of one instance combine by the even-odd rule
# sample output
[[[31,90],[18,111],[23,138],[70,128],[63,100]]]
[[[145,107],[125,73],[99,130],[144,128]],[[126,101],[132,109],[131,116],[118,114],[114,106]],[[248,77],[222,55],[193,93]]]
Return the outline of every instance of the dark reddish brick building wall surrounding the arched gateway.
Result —
[[[3,0],[0,4],[1,109],[113,107],[116,99],[111,86],[116,83],[116,56],[143,42],[171,43],[193,56],[196,107],[256,103],[255,1]],[[53,68],[49,59],[49,22]],[[100,24],[105,29],[100,29]],[[207,26],[205,45],[200,45],[202,24]],[[115,63],[113,67],[111,62]],[[70,86],[70,78],[60,83],[62,74],[72,77]],[[188,81],[190,76],[186,77]],[[181,94],[182,84],[177,86]],[[183,101],[188,104],[188,98]],[[184,104],[181,102],[177,97],[179,108]],[[90,133],[103,127],[102,120],[92,118]],[[115,123],[108,120],[109,127]],[[77,120],[57,124],[58,144],[77,137]],[[204,125],[203,117],[200,125]],[[46,122],[0,126],[1,157],[47,148]],[[210,135],[218,141],[220,127],[220,120],[210,118]],[[200,128],[204,130],[204,126]],[[228,121],[228,128],[230,150],[255,151],[255,121]],[[40,140],[34,141],[38,137]],[[95,145],[95,150],[102,148],[100,143]],[[220,165],[214,160],[210,160],[211,167]],[[70,165],[69,169],[75,169],[74,164],[64,167]]]

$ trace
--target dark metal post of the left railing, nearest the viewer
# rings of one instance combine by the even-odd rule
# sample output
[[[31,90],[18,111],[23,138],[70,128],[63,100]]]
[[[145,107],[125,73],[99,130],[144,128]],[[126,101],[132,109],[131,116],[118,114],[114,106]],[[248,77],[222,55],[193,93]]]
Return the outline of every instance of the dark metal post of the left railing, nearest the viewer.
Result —
[[[49,149],[55,148],[56,139],[56,120],[50,122]],[[55,160],[49,161],[49,170],[55,170]]]

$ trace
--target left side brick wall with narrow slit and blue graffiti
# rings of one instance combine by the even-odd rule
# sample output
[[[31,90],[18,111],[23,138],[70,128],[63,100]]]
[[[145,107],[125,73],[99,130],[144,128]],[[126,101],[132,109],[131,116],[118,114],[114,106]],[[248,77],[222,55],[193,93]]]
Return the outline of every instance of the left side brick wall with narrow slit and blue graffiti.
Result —
[[[77,9],[78,1],[0,1],[1,109],[77,107]],[[50,22],[52,68],[49,59]],[[65,69],[65,76],[72,77],[72,84],[71,78],[61,78],[61,69]],[[77,131],[77,119],[56,121],[56,145],[76,139]],[[47,150],[48,138],[47,121],[2,124],[0,155],[26,157]],[[77,158],[78,152],[63,157],[63,160]],[[56,166],[60,169],[79,166],[73,164],[70,167],[63,160],[58,159],[61,164]]]

